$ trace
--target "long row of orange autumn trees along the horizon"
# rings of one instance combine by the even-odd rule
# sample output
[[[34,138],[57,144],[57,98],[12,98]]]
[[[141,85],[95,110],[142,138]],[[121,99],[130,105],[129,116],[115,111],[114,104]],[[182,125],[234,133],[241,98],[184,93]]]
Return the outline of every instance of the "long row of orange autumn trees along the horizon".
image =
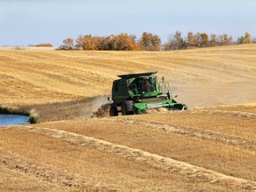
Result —
[[[144,32],[139,39],[127,33],[109,36],[80,35],[75,41],[68,37],[59,48],[60,50],[86,51],[170,51],[231,44],[252,44],[256,43],[256,39],[252,39],[248,32],[234,41],[233,37],[228,34],[211,34],[209,36],[207,33],[188,32],[187,36],[182,36],[180,31],[176,31],[169,37],[167,43],[161,44],[161,42],[160,36],[148,32]]]

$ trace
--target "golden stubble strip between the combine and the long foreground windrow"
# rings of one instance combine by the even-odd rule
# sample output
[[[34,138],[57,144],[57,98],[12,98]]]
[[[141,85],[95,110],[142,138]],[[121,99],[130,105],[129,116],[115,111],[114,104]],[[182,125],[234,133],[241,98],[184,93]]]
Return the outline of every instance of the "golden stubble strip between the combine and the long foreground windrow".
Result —
[[[174,116],[164,115],[169,116],[175,122],[174,124],[182,124],[183,116],[187,116],[186,113],[182,113],[178,117],[174,114]],[[156,119],[161,119],[162,116],[163,114],[154,115]],[[166,121],[157,123],[152,115],[144,115],[144,120],[145,117],[150,117],[148,123],[145,121],[140,124],[141,116],[132,116],[129,117],[129,121],[124,117],[115,120],[107,118],[100,121],[93,119],[86,122],[70,122],[72,125],[69,126],[67,126],[67,122],[49,123],[45,124],[45,127],[76,132],[131,148],[140,148],[153,154],[180,159],[189,164],[201,165],[218,172],[226,172],[228,175],[256,180],[256,175],[254,175],[256,143],[255,140],[244,137],[244,132],[247,132],[247,130],[243,133],[234,132],[231,136],[228,133],[223,134],[221,130],[209,128],[205,131],[204,124],[202,128],[193,128],[187,124],[183,124],[183,127],[173,127],[172,124]],[[194,122],[202,124],[201,122],[204,119],[204,116],[197,116],[196,121],[194,118]],[[218,119],[219,116],[212,116],[212,122]],[[157,124],[154,124],[155,122]],[[237,121],[234,124],[237,124]],[[252,124],[251,129],[253,131],[256,121],[249,122],[249,124]],[[67,128],[65,128],[66,126]],[[222,128],[230,130],[232,124],[222,125]],[[212,154],[216,156],[212,156]],[[243,172],[241,167],[244,171],[248,167],[248,172]]]

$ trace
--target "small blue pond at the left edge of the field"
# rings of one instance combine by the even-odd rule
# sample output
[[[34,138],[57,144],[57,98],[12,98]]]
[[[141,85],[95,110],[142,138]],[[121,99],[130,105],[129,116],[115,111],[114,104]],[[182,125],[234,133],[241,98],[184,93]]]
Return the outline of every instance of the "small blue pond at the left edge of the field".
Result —
[[[0,126],[15,124],[29,124],[29,117],[17,115],[0,115]]]

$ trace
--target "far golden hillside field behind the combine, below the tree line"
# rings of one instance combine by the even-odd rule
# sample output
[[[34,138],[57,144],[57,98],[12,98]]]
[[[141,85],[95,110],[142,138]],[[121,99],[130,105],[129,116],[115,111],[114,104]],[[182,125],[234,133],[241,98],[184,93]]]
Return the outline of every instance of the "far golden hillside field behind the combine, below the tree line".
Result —
[[[155,70],[189,108],[254,103],[255,60],[255,44],[177,52],[1,50],[1,103],[109,95],[116,75]]]

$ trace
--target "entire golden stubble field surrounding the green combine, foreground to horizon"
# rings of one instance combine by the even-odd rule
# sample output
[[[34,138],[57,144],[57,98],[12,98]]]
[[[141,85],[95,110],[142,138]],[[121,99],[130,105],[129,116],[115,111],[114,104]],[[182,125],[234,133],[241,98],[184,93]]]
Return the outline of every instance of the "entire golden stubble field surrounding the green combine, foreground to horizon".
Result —
[[[0,190],[256,191],[255,69],[256,44],[1,50],[0,105],[42,123],[0,127]],[[116,75],[155,70],[190,110],[88,117]]]

